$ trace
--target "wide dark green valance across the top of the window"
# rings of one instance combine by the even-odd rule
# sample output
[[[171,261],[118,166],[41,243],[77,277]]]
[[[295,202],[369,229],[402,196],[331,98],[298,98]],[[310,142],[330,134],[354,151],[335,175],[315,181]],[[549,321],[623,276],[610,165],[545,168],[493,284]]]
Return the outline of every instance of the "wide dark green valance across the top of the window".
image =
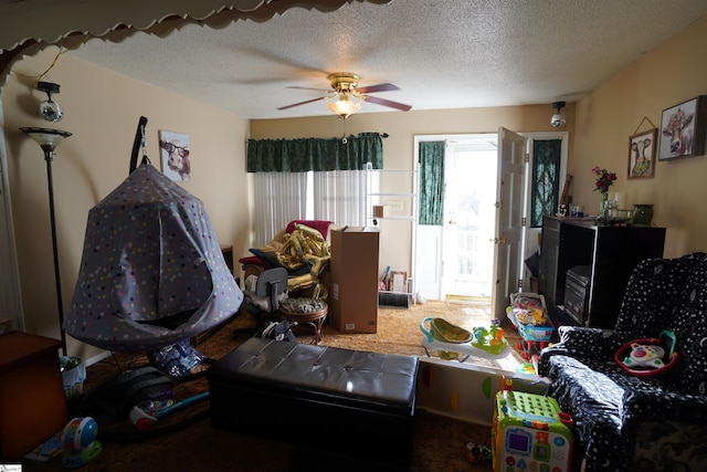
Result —
[[[308,172],[383,168],[383,141],[378,133],[341,138],[249,139],[249,172]]]

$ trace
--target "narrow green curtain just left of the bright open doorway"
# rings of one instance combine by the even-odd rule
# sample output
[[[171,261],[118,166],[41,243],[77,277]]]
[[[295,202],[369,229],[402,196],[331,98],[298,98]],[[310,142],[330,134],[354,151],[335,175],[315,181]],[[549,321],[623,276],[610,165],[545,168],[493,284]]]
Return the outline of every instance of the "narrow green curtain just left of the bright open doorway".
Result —
[[[420,143],[420,224],[444,219],[444,141]]]

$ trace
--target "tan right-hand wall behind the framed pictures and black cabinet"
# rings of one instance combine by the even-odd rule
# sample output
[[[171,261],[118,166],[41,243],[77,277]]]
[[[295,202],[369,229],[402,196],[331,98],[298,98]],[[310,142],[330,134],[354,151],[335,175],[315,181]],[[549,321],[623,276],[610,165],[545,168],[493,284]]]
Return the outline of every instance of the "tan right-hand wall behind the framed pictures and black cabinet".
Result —
[[[597,207],[592,167],[615,171],[612,190],[624,192],[626,204],[655,204],[653,223],[667,228],[666,256],[705,251],[707,158],[657,161],[653,179],[627,179],[629,137],[644,117],[661,127],[661,116],[697,95],[707,94],[707,17],[700,18],[664,45],[643,55],[577,105],[574,147],[569,172],[574,201]],[[647,122],[640,132],[653,127]],[[658,137],[661,139],[661,137]]]

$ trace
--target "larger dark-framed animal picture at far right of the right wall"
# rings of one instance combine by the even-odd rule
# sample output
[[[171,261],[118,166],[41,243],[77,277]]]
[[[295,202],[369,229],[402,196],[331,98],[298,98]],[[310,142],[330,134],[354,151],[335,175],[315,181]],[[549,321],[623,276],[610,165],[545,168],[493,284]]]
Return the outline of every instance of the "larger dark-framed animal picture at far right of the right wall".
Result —
[[[705,154],[707,133],[707,95],[683,102],[663,111],[659,160]]]

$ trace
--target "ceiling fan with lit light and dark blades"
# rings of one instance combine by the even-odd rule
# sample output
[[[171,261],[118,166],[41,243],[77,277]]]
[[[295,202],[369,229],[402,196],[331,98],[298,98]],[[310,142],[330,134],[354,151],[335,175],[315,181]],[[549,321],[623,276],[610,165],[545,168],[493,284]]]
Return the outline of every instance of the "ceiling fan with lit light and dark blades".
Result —
[[[330,74],[328,77],[331,83],[331,90],[323,91],[320,88],[310,88],[310,87],[296,87],[291,86],[287,88],[300,88],[307,91],[320,91],[326,93],[326,95],[306,99],[304,102],[294,103],[292,105],[281,106],[277,109],[287,109],[293,108],[295,106],[305,105],[307,103],[318,102],[320,99],[329,99],[329,98],[338,98],[327,105],[327,107],[339,115],[341,118],[348,118],[352,113],[357,112],[361,107],[361,102],[370,102],[377,105],[388,106],[390,108],[400,109],[402,112],[407,112],[412,106],[405,105],[403,103],[392,102],[386,98],[379,98],[377,96],[369,95],[370,93],[376,92],[389,92],[389,91],[398,91],[397,86],[393,84],[378,84],[371,85],[368,87],[359,87],[358,81],[360,77],[351,72],[336,72]],[[351,99],[355,98],[355,99]]]

